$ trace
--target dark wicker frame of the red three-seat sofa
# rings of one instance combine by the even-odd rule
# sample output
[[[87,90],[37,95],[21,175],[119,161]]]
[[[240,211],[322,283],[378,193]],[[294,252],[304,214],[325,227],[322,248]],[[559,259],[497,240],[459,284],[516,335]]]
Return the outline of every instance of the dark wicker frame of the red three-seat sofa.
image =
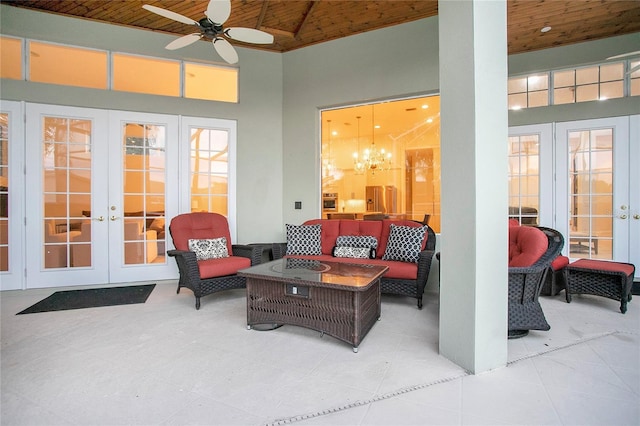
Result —
[[[403,280],[383,276],[380,281],[380,288],[383,294],[414,297],[417,300],[418,309],[422,309],[422,296],[427,285],[431,261],[436,248],[436,234],[430,226],[427,226],[427,234],[426,247],[420,252],[418,259],[418,275],[416,279]],[[274,243],[272,250],[273,258],[280,259],[287,253],[287,243]]]

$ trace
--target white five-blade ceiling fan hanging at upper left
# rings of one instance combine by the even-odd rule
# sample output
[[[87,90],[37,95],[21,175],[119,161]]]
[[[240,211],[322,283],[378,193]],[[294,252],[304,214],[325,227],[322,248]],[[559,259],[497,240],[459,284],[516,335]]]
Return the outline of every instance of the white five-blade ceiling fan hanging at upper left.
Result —
[[[210,0],[207,10],[204,12],[205,17],[199,21],[194,21],[179,13],[172,12],[160,7],[145,4],[143,9],[153,12],[165,18],[182,22],[188,25],[195,25],[199,32],[188,34],[180,37],[165,46],[166,49],[175,50],[188,46],[198,40],[211,40],[213,47],[226,62],[235,64],[238,62],[238,53],[236,49],[227,40],[238,40],[245,43],[271,44],[273,36],[264,31],[254,28],[224,28],[223,24],[231,14],[231,0]]]

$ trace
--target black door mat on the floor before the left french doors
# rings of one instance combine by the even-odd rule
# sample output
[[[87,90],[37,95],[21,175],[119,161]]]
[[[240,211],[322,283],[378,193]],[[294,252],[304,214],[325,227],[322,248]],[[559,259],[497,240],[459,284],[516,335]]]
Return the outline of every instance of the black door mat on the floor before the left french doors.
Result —
[[[155,284],[145,284],[126,287],[56,291],[51,296],[42,299],[24,311],[18,312],[16,315],[145,303],[155,286]]]

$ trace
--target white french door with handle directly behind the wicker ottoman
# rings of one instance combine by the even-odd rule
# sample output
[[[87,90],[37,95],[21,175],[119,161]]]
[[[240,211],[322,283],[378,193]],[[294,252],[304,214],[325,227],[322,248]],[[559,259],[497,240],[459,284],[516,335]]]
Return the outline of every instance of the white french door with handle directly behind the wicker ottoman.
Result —
[[[556,228],[571,259],[640,261],[639,117],[556,125]]]

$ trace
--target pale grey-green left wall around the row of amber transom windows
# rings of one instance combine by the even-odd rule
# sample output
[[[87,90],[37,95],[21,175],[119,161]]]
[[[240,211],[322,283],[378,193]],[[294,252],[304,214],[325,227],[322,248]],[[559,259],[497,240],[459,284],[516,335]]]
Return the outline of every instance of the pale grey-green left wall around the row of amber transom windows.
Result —
[[[144,11],[140,10],[142,14]],[[144,12],[146,13],[146,12]],[[164,49],[174,36],[0,5],[0,31],[35,40],[225,65],[210,43]],[[238,122],[238,242],[279,241],[282,222],[282,55],[237,48],[237,104],[2,80],[2,99],[213,117]]]

